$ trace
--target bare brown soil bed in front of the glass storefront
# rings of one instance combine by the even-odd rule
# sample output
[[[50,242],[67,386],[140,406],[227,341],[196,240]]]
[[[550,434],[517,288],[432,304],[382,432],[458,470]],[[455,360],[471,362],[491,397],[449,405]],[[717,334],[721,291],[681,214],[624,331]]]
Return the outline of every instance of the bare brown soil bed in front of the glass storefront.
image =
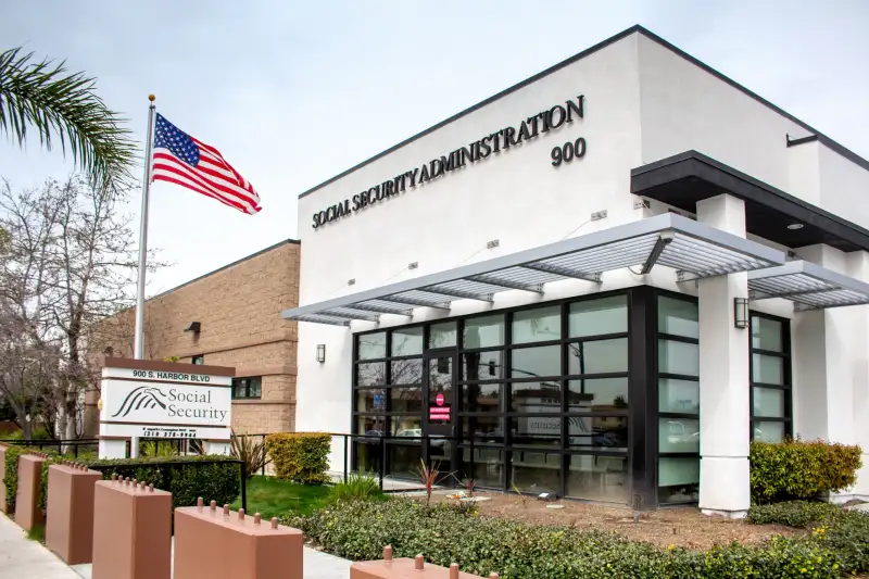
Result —
[[[616,531],[631,541],[645,541],[666,549],[670,545],[706,550],[715,544],[756,544],[774,534],[794,536],[805,531],[781,525],[750,525],[743,520],[703,515],[696,507],[669,507],[644,513],[634,523],[633,512],[572,501],[559,501],[564,508],[546,508],[534,498],[515,494],[482,493],[491,498],[477,504],[480,515],[520,520],[532,525],[559,525],[582,530]],[[455,499],[433,495],[432,503]]]

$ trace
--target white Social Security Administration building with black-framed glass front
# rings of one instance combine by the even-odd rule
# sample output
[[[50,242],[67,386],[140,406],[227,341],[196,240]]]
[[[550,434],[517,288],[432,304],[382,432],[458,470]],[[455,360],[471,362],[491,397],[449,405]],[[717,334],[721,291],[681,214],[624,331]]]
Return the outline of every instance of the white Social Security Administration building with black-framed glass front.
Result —
[[[742,516],[751,440],[869,449],[867,191],[626,30],[302,193],[297,427],[361,470]]]

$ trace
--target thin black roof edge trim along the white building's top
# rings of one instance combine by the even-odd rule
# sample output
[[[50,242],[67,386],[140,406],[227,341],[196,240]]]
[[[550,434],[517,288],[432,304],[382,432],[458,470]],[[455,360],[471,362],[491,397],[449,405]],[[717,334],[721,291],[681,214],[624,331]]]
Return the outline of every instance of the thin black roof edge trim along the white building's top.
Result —
[[[609,45],[612,45],[614,42],[618,42],[619,40],[621,40],[624,38],[627,38],[628,36],[632,35],[632,34],[641,34],[641,35],[645,36],[646,38],[648,38],[650,40],[653,40],[654,42],[657,42],[662,47],[664,47],[664,48],[668,49],[669,51],[673,52],[675,54],[683,58],[684,60],[687,60],[691,64],[694,64],[695,66],[698,66],[698,67],[703,68],[704,71],[706,71],[707,73],[711,74],[713,76],[715,76],[719,80],[722,80],[722,81],[727,83],[731,87],[733,87],[736,90],[743,92],[744,95],[751,97],[752,99],[754,99],[755,101],[759,102],[764,106],[767,106],[768,109],[779,113],[780,115],[784,116],[789,121],[799,125],[801,127],[803,127],[804,129],[806,129],[807,131],[813,134],[809,137],[805,137],[805,139],[813,139],[813,140],[817,139],[821,143],[826,144],[827,147],[829,147],[830,149],[832,149],[836,153],[839,153],[842,156],[844,156],[845,159],[847,159],[848,161],[851,161],[851,162],[859,165],[860,167],[869,171],[869,161],[867,161],[862,156],[858,155],[857,153],[855,153],[851,149],[847,149],[844,146],[837,143],[836,141],[834,141],[830,137],[823,135],[818,129],[816,129],[816,128],[811,127],[810,125],[808,125],[807,123],[804,123],[803,121],[796,118],[794,115],[790,114],[789,112],[784,111],[783,109],[772,104],[770,101],[768,101],[765,98],[760,97],[756,92],[753,92],[752,90],[748,90],[747,88],[745,88],[744,86],[740,85],[739,83],[736,83],[732,78],[730,78],[728,76],[725,76],[723,74],[719,73],[718,71],[716,71],[715,68],[713,68],[708,64],[705,64],[705,63],[701,62],[700,60],[695,59],[694,56],[692,56],[688,52],[683,51],[682,49],[678,48],[677,46],[671,45],[670,42],[668,42],[667,40],[663,39],[658,35],[656,35],[656,34],[647,30],[643,26],[640,26],[639,24],[637,24],[634,26],[631,26],[627,30],[622,30],[622,32],[618,33],[615,36],[610,36],[606,40],[604,40],[602,42],[599,42],[599,43],[594,45],[591,48],[587,48],[582,52],[574,54],[569,59],[566,59],[566,60],[564,60],[564,61],[562,61],[562,62],[559,62],[559,63],[557,63],[557,64],[555,64],[553,66],[550,66],[545,71],[542,71],[542,72],[540,72],[540,73],[538,73],[538,74],[536,74],[533,76],[530,76],[530,77],[526,78],[525,80],[522,80],[520,83],[517,83],[517,84],[513,85],[512,87],[506,88],[506,89],[502,90],[501,92],[499,92],[496,95],[493,95],[493,96],[489,97],[488,99],[484,99],[484,100],[478,102],[477,104],[474,104],[474,105],[465,109],[464,111],[462,111],[459,113],[454,114],[453,116],[451,116],[449,118],[445,118],[444,121],[441,121],[437,125],[433,125],[433,126],[431,126],[431,127],[429,127],[429,128],[427,128],[427,129],[425,129],[425,130],[423,130],[420,133],[417,133],[413,137],[410,137],[410,138],[405,139],[405,140],[399,142],[398,144],[394,144],[394,146],[390,147],[386,151],[381,151],[381,152],[377,153],[376,155],[363,161],[362,163],[350,167],[349,169],[344,171],[343,173],[339,173],[335,177],[326,179],[322,184],[319,184],[319,185],[317,185],[315,187],[312,187],[311,189],[307,189],[306,191],[301,192],[299,194],[299,199],[302,199],[303,197],[307,197],[307,196],[316,192],[317,190],[322,189],[323,187],[325,187],[325,186],[327,186],[327,185],[329,185],[331,182],[335,182],[335,181],[337,181],[338,179],[340,179],[342,177],[345,177],[345,176],[350,175],[351,173],[353,173],[353,172],[355,172],[355,171],[357,171],[357,169],[360,169],[360,168],[362,168],[362,167],[364,167],[364,166],[377,161],[378,159],[381,159],[381,158],[383,158],[383,156],[386,156],[386,155],[388,155],[390,153],[393,153],[393,152],[398,151],[399,149],[401,149],[402,147],[405,147],[405,146],[414,142],[415,140],[420,139],[421,137],[425,137],[429,133],[433,133],[433,131],[438,130],[439,128],[442,128],[442,127],[449,125],[450,123],[452,123],[454,121],[458,121],[463,116],[468,115],[468,114],[473,113],[474,111],[476,111],[478,109],[481,109],[481,108],[483,108],[483,106],[486,106],[488,104],[491,104],[491,103],[495,102],[496,100],[501,99],[502,97],[506,97],[507,95],[509,95],[512,92],[515,92],[515,91],[519,90],[520,88],[530,85],[531,83],[536,83],[537,80],[540,80],[541,78],[543,78],[545,76],[549,76],[549,75],[551,75],[551,74],[564,68],[565,66],[568,66],[568,65],[570,65],[570,64],[572,64],[572,63],[575,63],[575,62],[577,62],[579,60],[582,60],[585,56],[589,56],[589,55],[597,52],[599,50],[608,47]],[[797,139],[797,141],[802,141],[802,140],[803,139]],[[794,142],[797,142],[797,141],[794,141]]]

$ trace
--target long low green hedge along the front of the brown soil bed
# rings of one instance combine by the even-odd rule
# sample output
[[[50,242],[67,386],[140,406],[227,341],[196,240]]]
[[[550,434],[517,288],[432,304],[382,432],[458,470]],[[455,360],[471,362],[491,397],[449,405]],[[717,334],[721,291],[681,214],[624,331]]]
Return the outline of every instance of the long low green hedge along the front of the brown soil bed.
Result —
[[[617,533],[571,527],[533,526],[477,516],[448,504],[424,506],[387,502],[338,503],[307,517],[284,517],[327,551],[356,561],[382,557],[391,544],[396,557],[421,553],[444,567],[503,579],[604,579],[612,577],[678,579],[752,577],[835,578],[842,557],[831,542],[776,537],[759,546],[732,544],[706,552],[657,549]]]

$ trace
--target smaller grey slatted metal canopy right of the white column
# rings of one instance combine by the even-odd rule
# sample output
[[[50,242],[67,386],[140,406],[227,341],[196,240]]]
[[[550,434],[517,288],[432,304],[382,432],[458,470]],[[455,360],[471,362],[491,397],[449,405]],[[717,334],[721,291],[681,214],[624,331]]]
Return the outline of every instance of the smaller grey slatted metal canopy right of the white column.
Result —
[[[869,303],[869,284],[804,261],[750,272],[748,291],[752,300],[783,298],[798,310]]]

